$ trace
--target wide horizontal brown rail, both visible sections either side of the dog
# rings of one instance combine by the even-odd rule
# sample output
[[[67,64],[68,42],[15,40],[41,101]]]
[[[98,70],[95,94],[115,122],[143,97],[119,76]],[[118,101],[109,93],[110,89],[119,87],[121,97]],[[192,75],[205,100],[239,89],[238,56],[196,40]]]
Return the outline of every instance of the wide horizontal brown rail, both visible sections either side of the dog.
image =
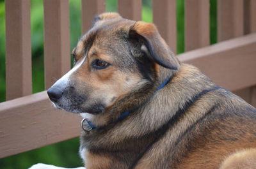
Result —
[[[256,34],[178,55],[229,90],[256,84]],[[0,103],[0,158],[79,135],[81,117],[56,110],[46,92]]]

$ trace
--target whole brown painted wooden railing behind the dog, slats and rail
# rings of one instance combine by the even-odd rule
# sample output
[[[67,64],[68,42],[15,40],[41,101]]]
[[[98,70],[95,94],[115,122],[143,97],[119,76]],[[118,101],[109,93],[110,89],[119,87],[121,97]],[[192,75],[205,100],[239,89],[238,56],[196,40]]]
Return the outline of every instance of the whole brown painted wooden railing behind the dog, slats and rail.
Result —
[[[6,0],[6,98],[0,103],[0,158],[79,135],[78,115],[56,110],[46,92],[31,94],[30,1]],[[104,0],[81,0],[82,33],[104,11]],[[176,0],[152,0],[153,20],[176,52]],[[185,1],[185,47],[217,84],[256,105],[256,1],[218,1],[218,40],[209,46],[209,1]],[[119,0],[124,18],[141,19],[140,0]],[[68,0],[44,0],[45,89],[70,69]],[[247,35],[245,35],[247,34]],[[233,39],[231,39],[233,38]],[[191,51],[190,51],[191,50]],[[237,91],[239,90],[239,91]]]

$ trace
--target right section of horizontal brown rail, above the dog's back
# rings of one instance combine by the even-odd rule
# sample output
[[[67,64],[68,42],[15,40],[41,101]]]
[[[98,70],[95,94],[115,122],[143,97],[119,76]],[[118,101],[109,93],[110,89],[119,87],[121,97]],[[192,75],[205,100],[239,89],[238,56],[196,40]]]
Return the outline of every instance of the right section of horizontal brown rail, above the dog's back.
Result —
[[[236,91],[256,84],[256,33],[178,55],[216,84]]]

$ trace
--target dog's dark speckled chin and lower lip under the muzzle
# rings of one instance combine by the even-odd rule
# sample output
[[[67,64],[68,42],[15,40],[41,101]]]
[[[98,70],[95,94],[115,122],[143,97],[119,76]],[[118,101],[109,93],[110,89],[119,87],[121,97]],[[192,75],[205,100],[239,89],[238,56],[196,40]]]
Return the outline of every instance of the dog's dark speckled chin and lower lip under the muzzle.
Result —
[[[70,112],[73,114],[83,114],[83,113],[88,113],[88,114],[102,114],[105,111],[104,105],[93,105],[91,107],[74,107],[74,106],[63,106],[63,105],[58,105],[57,103],[52,102],[53,107],[58,108],[60,110],[65,110],[66,112]]]

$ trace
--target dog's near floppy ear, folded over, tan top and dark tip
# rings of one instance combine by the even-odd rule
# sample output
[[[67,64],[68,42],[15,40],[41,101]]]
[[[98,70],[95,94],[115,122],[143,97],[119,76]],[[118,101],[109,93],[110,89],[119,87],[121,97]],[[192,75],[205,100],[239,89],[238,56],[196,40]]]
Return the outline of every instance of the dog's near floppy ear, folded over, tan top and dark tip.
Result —
[[[130,27],[129,37],[136,38],[143,43],[141,50],[147,50],[144,52],[148,54],[152,61],[165,68],[177,70],[179,61],[161,38],[154,24],[142,21],[136,22]]]

